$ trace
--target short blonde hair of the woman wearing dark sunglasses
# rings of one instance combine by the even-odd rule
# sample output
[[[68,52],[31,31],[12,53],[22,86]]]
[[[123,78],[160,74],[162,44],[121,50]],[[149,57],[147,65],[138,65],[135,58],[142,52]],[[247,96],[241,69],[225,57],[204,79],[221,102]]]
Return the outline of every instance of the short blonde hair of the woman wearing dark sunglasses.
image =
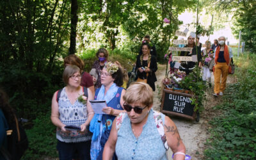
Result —
[[[127,104],[134,102],[141,103],[145,106],[153,104],[154,93],[152,88],[147,83],[135,82],[126,90],[124,101]]]

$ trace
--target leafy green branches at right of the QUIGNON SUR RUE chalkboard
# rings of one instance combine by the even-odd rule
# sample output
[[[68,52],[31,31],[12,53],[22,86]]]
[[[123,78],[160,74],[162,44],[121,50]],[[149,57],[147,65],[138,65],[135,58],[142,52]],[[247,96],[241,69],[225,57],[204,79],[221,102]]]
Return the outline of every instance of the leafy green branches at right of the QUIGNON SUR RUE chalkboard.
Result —
[[[207,86],[205,86],[205,83],[202,80],[200,68],[196,66],[193,72],[180,81],[179,86],[184,90],[191,90],[193,95],[191,97],[191,104],[195,104],[194,111],[202,113],[202,111],[204,111],[203,102],[205,100],[205,89]]]

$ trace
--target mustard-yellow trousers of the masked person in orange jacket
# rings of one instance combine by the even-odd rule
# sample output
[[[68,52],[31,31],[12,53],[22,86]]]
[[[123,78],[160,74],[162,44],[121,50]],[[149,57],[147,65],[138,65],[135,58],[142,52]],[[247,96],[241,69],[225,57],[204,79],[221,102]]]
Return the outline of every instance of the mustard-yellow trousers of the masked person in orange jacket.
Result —
[[[220,93],[226,88],[229,67],[226,62],[218,62],[214,68],[214,93]]]

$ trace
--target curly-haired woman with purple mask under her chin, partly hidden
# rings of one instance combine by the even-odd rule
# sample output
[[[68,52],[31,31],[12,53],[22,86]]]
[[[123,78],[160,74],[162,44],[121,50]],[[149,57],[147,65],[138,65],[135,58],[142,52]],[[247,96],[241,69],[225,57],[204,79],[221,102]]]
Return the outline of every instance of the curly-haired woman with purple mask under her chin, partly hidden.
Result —
[[[105,63],[108,61],[108,51],[104,48],[99,49],[96,53],[96,57],[98,60],[94,61],[92,65],[92,69],[94,68],[96,70],[97,76],[93,76],[93,82],[95,83],[95,89],[100,88],[101,81],[100,81],[100,72],[102,72],[102,69],[105,65]]]

